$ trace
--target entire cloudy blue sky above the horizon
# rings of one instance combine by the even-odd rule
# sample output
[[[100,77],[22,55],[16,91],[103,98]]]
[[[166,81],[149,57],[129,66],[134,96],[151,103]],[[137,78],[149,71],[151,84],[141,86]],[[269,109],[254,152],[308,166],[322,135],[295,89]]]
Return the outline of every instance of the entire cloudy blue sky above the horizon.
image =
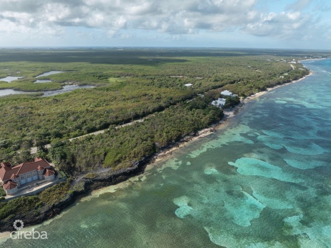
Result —
[[[0,0],[0,47],[331,50],[331,0]]]

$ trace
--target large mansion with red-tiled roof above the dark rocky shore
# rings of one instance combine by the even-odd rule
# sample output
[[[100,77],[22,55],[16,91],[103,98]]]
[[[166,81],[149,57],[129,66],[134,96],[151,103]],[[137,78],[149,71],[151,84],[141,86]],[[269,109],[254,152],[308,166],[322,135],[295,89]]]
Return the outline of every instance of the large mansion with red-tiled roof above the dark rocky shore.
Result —
[[[15,194],[22,185],[36,180],[53,180],[55,172],[43,158],[24,162],[12,167],[10,163],[0,163],[0,183],[7,195]]]

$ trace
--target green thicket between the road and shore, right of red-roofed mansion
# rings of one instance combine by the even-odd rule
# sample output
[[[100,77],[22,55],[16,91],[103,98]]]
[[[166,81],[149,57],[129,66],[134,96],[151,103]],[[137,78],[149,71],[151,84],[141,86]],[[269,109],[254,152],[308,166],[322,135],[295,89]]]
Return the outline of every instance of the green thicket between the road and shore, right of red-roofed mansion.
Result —
[[[129,167],[160,148],[174,144],[223,117],[221,109],[211,106],[211,97],[197,98],[171,106],[144,122],[109,128],[105,133],[70,141],[55,141],[50,155],[66,173],[88,172],[92,168]]]

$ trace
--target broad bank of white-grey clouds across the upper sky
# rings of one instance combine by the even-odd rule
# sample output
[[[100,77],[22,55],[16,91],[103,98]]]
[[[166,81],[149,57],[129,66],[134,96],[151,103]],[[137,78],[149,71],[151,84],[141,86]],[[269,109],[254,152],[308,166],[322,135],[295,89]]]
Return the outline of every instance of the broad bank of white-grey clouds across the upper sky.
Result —
[[[32,37],[41,32],[61,34],[66,27],[80,26],[102,29],[108,37],[115,37],[127,28],[171,35],[239,29],[255,36],[291,39],[321,30],[318,18],[302,12],[314,5],[311,0],[297,0],[280,13],[262,12],[257,1],[2,0],[0,32],[30,33]],[[330,32],[326,31],[326,37]]]

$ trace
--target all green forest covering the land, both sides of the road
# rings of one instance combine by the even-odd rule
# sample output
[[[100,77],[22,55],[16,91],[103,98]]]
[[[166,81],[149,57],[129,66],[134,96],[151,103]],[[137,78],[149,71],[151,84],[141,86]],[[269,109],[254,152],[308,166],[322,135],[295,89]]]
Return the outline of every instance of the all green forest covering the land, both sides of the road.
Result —
[[[209,105],[222,90],[245,98],[308,74],[300,59],[328,55],[248,49],[2,49],[0,78],[23,78],[0,81],[0,89],[34,93],[0,97],[0,160],[25,161],[31,158],[30,147],[37,146],[68,170],[123,166],[219,120],[222,111]],[[66,73],[38,77],[52,82],[34,83],[49,71]],[[67,84],[96,87],[51,97],[38,93]],[[198,94],[206,98],[197,99]],[[188,99],[195,100],[185,103]],[[163,110],[140,124],[66,141]],[[47,154],[42,146],[50,142]]]

